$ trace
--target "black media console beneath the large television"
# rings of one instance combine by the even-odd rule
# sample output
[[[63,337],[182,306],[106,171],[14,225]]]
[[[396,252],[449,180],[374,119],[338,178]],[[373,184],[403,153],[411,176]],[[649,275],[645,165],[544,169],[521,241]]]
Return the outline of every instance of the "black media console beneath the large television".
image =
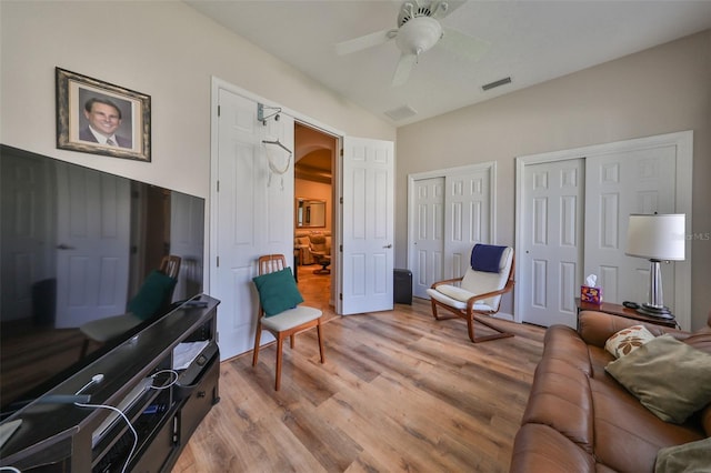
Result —
[[[203,303],[180,305],[3,421],[0,437],[19,426],[0,449],[0,465],[36,473],[170,471],[220,400],[220,302],[194,299]],[[88,395],[87,404],[120,406],[131,427],[113,410],[76,405],[77,393]]]

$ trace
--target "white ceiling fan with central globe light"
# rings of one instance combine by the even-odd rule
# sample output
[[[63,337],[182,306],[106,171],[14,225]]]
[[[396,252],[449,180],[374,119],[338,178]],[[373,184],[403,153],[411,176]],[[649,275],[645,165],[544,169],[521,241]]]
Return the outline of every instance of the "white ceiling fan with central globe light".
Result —
[[[463,3],[465,1],[408,0],[400,8],[398,28],[340,42],[336,44],[336,52],[339,56],[350,54],[394,39],[400,50],[400,60],[392,78],[392,85],[405,83],[420,54],[438,43],[468,60],[475,61],[484,54],[489,42],[440,23],[440,20]]]

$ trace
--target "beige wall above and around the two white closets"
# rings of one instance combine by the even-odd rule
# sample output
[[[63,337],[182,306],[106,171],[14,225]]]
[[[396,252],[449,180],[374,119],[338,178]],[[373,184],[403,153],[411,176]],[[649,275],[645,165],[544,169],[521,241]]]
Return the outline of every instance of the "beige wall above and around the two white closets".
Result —
[[[513,244],[515,157],[683,130],[694,130],[698,329],[711,309],[711,31],[398,129],[395,205],[405,208],[410,173],[497,161],[497,234]],[[405,268],[403,212],[395,235],[395,266]]]

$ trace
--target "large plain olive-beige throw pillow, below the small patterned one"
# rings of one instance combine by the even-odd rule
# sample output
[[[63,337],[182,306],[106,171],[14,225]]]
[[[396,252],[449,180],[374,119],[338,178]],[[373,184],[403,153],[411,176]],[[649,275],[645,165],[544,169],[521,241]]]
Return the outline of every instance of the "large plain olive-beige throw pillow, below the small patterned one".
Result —
[[[683,423],[711,402],[711,354],[667,334],[605,366],[659,419]]]

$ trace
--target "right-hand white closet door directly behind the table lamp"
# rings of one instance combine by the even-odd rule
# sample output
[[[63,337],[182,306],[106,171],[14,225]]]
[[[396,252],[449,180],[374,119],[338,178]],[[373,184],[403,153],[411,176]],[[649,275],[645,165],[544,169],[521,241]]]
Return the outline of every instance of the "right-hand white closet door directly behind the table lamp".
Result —
[[[650,263],[627,256],[630,213],[674,213],[673,145],[617,152],[587,160],[584,274],[597,274],[608,302],[647,302]],[[664,304],[674,306],[673,264],[662,265]]]

